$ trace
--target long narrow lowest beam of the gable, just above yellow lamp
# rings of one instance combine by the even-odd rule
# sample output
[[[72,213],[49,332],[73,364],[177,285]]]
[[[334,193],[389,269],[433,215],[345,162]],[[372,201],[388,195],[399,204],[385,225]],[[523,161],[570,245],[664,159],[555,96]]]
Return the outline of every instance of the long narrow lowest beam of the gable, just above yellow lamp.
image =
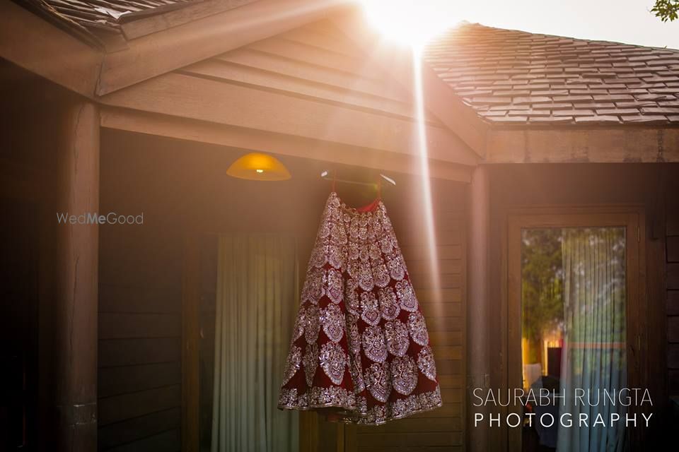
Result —
[[[388,172],[421,174],[419,158],[385,150],[359,148],[341,143],[313,140],[283,133],[224,126],[207,121],[171,117],[116,107],[103,107],[101,126],[107,129],[147,133],[187,141],[197,141],[265,153],[290,155],[312,160],[355,165]],[[473,167],[429,160],[429,176],[470,182]]]

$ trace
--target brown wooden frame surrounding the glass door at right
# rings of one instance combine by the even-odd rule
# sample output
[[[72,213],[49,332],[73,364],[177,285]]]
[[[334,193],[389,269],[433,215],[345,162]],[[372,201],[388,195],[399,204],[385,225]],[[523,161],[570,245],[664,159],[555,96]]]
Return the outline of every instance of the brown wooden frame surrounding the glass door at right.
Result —
[[[647,331],[643,299],[646,287],[644,208],[622,206],[537,206],[511,208],[501,237],[501,348],[504,375],[502,390],[521,388],[521,229],[539,227],[625,227],[627,287],[628,386],[646,387]],[[636,239],[635,239],[636,238]],[[637,319],[637,321],[631,321]],[[511,407],[501,412],[506,416]],[[516,411],[516,409],[514,410]],[[521,451],[521,429],[504,429],[503,450]],[[632,438],[634,442],[636,437]]]

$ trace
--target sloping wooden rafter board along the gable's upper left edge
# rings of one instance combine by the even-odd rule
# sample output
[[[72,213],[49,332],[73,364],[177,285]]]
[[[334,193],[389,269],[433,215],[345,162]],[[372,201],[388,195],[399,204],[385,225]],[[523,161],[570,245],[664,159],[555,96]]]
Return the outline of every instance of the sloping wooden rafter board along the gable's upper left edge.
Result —
[[[112,93],[339,11],[347,0],[260,0],[128,42],[107,54],[97,88]]]

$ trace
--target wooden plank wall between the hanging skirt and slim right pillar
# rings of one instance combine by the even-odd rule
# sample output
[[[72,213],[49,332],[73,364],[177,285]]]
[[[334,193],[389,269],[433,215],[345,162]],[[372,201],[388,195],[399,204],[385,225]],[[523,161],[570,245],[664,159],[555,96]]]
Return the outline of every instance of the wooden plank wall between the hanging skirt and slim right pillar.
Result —
[[[433,287],[426,222],[419,210],[388,206],[397,239],[426,318],[443,407],[379,427],[357,427],[356,451],[458,451],[463,449],[465,397],[465,194],[458,184],[433,187],[440,288]],[[415,197],[417,195],[413,195]],[[349,451],[350,449],[347,449]]]

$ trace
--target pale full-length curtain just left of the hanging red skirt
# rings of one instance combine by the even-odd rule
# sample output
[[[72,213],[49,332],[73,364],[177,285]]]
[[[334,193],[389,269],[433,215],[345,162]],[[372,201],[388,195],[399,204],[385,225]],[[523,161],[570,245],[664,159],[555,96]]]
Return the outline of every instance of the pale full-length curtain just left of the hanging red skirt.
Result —
[[[296,413],[277,409],[297,281],[294,238],[219,238],[212,452],[298,449]]]

